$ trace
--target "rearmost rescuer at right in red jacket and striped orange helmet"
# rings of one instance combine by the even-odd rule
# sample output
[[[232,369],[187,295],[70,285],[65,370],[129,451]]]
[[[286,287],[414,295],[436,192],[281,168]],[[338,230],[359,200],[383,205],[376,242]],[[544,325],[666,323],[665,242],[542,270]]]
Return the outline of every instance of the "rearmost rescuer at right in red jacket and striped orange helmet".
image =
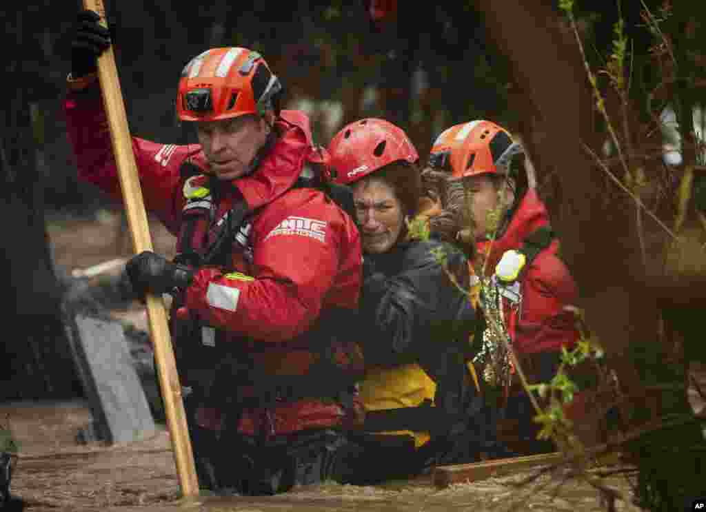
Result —
[[[578,290],[557,255],[558,239],[546,208],[527,185],[522,147],[490,121],[454,126],[448,135],[455,142],[440,146],[436,161],[448,163],[449,179],[462,181],[466,191],[479,255],[477,272],[490,279],[503,323],[530,382],[549,382],[558,368],[561,348],[573,348],[578,339],[575,317],[567,308],[578,300]],[[476,338],[481,343],[483,336],[479,333]],[[535,413],[517,386],[510,390],[506,405],[506,418],[519,431],[520,442],[515,446],[530,452],[552,449],[551,444],[534,439]]]

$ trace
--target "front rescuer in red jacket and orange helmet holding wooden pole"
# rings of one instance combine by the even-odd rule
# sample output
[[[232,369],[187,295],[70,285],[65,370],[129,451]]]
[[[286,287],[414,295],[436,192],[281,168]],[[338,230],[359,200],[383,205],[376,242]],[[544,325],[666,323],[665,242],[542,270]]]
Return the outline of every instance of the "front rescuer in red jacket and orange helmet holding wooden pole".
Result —
[[[110,44],[79,14],[65,102],[78,176],[119,198],[95,56]],[[145,206],[177,236],[177,259],[128,262],[138,293],[172,293],[172,340],[199,482],[273,494],[328,477],[354,417],[360,352],[349,341],[361,281],[352,219],[330,199],[309,121],[244,48],[184,67],[177,114],[199,145],[133,138]]]

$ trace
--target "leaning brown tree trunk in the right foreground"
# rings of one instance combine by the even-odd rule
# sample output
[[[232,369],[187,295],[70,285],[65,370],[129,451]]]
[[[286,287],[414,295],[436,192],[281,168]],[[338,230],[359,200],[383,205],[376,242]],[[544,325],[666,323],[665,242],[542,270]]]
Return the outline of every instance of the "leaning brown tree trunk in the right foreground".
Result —
[[[654,391],[654,386],[678,386],[684,379],[683,365],[659,336],[659,318],[662,310],[683,303],[685,295],[689,303],[702,301],[704,291],[691,276],[663,275],[666,236],[646,216],[643,262],[634,202],[606,181],[604,171],[582,150],[582,144],[595,150],[603,141],[593,127],[592,91],[573,35],[559,30],[551,4],[476,4],[484,13],[486,33],[512,62],[517,82],[528,93],[526,100],[541,116],[546,138],[537,151],[542,167],[558,170],[561,185],[552,224],[579,286],[580,306],[630,396],[629,417],[624,418],[628,427],[669,415],[693,420],[686,390]],[[510,12],[513,16],[507,16]],[[640,469],[638,496],[645,507],[657,510],[659,504],[659,510],[677,510],[703,489],[703,442],[699,425],[691,422],[676,429],[663,427],[623,446]]]

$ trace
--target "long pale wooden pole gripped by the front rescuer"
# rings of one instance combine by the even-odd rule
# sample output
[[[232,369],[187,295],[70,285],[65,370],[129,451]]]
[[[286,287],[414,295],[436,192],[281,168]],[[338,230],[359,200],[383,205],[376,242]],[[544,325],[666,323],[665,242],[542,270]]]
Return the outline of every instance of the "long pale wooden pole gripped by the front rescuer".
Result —
[[[83,7],[98,13],[102,23],[107,26],[102,0],[83,0]],[[98,58],[98,77],[133,248],[135,253],[139,254],[145,250],[152,250],[152,239],[112,47]],[[167,415],[167,427],[172,439],[181,493],[184,496],[195,496],[198,494],[198,479],[191,451],[189,429],[186,426],[184,403],[181,401],[177,362],[174,359],[172,342],[169,338],[167,312],[161,297],[148,294],[146,302],[152,344],[155,348],[157,374],[162,388],[164,412]]]

